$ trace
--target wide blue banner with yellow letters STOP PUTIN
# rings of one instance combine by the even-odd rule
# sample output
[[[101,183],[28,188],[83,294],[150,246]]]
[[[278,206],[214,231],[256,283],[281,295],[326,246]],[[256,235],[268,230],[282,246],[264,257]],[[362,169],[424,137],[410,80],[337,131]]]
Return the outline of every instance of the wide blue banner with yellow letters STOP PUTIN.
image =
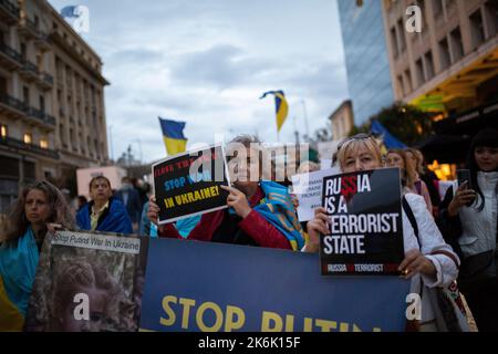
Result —
[[[409,281],[331,279],[319,262],[317,254],[153,239],[141,330],[404,331]]]

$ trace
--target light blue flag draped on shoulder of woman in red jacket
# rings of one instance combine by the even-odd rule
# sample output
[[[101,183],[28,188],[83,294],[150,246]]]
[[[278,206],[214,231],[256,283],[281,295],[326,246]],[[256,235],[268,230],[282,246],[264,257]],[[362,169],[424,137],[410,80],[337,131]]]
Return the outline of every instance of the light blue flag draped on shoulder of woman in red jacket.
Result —
[[[287,188],[267,180],[261,181],[260,187],[264,198],[255,207],[255,210],[286,236],[294,251],[301,250],[304,246],[302,228]]]

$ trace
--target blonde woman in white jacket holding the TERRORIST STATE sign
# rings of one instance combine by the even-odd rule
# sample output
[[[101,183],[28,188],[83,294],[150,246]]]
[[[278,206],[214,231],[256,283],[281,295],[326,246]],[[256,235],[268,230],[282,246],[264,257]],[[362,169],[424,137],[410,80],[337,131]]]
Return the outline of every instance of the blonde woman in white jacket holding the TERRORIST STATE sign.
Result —
[[[383,167],[382,154],[376,140],[369,135],[356,135],[339,146],[338,160],[344,174],[372,170]],[[423,197],[405,194],[408,207],[415,217],[418,235],[405,210],[403,210],[403,238],[405,259],[400,271],[405,279],[412,279],[412,293],[423,293],[421,279],[427,288],[445,288],[458,274],[459,260],[444,241]],[[320,235],[330,235],[329,216],[324,208],[315,210],[315,217],[308,222],[310,241],[303,251],[318,252]],[[422,294],[422,331],[437,331],[435,309],[430,299]]]

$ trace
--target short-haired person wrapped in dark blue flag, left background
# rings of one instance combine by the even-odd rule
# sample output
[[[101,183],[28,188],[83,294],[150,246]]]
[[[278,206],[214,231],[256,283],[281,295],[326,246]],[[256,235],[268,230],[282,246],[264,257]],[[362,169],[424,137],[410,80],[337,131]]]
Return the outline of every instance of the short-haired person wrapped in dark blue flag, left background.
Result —
[[[76,215],[82,230],[133,233],[132,221],[120,199],[112,197],[111,181],[98,176],[90,181],[90,197]]]

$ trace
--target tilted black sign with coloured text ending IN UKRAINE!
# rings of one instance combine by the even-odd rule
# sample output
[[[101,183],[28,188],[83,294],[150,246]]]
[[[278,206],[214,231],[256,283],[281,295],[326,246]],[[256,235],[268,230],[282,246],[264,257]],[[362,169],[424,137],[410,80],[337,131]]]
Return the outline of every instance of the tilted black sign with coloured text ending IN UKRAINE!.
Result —
[[[229,186],[220,145],[164,159],[153,166],[159,225],[227,208]]]

